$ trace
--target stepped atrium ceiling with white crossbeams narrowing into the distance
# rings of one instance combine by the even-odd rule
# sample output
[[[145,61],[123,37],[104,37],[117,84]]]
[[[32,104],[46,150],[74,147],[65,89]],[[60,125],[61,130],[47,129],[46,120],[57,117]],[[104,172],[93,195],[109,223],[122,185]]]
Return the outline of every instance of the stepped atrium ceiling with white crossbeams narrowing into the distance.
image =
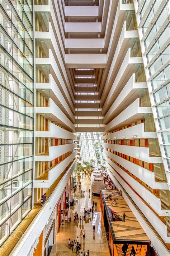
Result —
[[[60,35],[65,50],[65,65],[70,82],[70,98],[75,109],[76,132],[104,132],[105,99],[114,75],[107,81],[117,38],[121,30],[112,35],[118,1],[57,1]],[[120,27],[123,20],[119,15]],[[126,46],[126,51],[128,45]],[[122,52],[123,54],[123,52]],[[120,57],[121,58],[121,57]],[[118,69],[119,66],[115,67]],[[116,74],[116,72],[114,72]]]

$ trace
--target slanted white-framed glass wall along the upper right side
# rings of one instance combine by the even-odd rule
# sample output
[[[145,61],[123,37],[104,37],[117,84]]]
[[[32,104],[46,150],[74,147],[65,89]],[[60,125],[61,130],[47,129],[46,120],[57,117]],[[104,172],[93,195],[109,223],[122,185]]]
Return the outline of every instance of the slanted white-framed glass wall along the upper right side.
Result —
[[[146,1],[141,10],[141,18],[149,1]],[[169,1],[165,1],[161,11],[157,13],[161,1],[155,0],[142,26],[143,36],[146,34],[145,49],[148,69],[151,77],[152,93],[154,95],[157,118],[159,120],[162,141],[167,163],[170,169],[170,24]],[[155,17],[156,15],[156,17]],[[155,17],[153,24],[152,18]],[[163,27],[162,27],[163,26]]]

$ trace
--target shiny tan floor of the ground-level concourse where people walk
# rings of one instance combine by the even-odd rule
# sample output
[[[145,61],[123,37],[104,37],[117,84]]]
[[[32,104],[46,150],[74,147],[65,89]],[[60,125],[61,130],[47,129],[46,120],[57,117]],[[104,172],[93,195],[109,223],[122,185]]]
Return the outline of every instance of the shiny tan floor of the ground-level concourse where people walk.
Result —
[[[87,177],[87,176],[86,176]],[[81,189],[85,190],[85,195],[81,195],[81,189],[77,188],[76,193],[71,192],[71,199],[75,199],[75,206],[70,209],[71,225],[65,224],[60,226],[60,230],[56,236],[56,244],[53,245],[50,256],[69,256],[76,255],[75,250],[68,248],[67,241],[74,241],[74,239],[79,236],[80,230],[85,230],[86,240],[81,243],[81,251],[85,248],[85,252],[89,250],[89,256],[109,256],[108,243],[106,238],[106,233],[103,225],[103,220],[101,219],[100,213],[100,197],[89,195],[90,180],[89,178],[80,179]],[[91,189],[91,188],[90,188]],[[75,211],[80,215],[84,215],[84,208],[90,209],[92,203],[97,202],[96,211],[94,211],[93,216],[91,216],[87,221],[82,224],[77,224],[74,222]],[[73,210],[74,209],[74,210]],[[93,225],[95,225],[95,233],[93,234]],[[80,251],[80,252],[81,252]],[[80,255],[80,253],[79,253]]]

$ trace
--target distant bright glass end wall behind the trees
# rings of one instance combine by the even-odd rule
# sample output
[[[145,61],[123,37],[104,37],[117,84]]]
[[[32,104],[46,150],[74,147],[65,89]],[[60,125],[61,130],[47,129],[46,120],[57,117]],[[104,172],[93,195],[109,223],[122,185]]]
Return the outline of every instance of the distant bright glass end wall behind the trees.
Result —
[[[101,134],[79,133],[81,162],[87,161],[96,168],[104,165],[103,147],[101,145]],[[94,163],[91,161],[94,160]]]

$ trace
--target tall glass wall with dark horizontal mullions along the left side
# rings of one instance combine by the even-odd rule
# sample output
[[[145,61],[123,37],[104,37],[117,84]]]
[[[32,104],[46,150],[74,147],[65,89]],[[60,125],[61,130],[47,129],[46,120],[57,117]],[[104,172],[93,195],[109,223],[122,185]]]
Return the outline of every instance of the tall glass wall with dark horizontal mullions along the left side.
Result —
[[[32,1],[1,0],[0,245],[32,208]]]

